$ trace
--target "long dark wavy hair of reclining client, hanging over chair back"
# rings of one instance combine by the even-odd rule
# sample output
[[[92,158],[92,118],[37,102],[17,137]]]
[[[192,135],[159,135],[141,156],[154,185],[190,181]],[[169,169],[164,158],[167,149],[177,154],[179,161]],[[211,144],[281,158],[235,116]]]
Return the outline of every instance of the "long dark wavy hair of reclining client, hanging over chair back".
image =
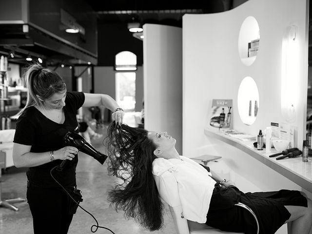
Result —
[[[156,144],[144,129],[112,122],[107,130],[106,144],[110,158],[108,170],[122,179],[108,194],[108,200],[126,217],[135,218],[150,231],[163,224],[164,206],[152,174]]]

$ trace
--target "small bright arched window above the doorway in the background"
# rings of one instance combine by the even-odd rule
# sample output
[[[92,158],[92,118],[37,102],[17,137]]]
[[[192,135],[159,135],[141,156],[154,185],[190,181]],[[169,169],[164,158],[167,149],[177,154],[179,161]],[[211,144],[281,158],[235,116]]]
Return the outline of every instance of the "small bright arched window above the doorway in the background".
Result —
[[[115,57],[115,70],[135,71],[137,70],[137,56],[130,51],[122,51]]]

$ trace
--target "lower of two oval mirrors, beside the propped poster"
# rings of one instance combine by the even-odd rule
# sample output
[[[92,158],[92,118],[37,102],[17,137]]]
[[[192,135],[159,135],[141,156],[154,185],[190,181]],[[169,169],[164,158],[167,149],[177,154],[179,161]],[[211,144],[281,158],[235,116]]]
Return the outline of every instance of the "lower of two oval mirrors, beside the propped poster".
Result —
[[[253,78],[245,77],[239,85],[237,95],[238,114],[244,124],[254,123],[259,108],[259,92]]]

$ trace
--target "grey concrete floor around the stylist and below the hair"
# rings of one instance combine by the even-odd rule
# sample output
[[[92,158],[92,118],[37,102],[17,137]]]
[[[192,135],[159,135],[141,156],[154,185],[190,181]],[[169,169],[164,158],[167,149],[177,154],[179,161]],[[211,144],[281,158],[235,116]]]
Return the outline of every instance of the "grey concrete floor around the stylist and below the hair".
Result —
[[[98,133],[105,136],[106,128],[98,129]],[[104,152],[102,139],[92,141],[93,146],[100,152]],[[26,196],[26,169],[9,168],[2,173],[2,199]],[[109,207],[106,192],[112,187],[115,177],[108,176],[107,164],[101,165],[91,156],[79,153],[77,167],[77,184],[82,191],[83,202],[80,205],[96,217],[99,226],[111,229],[115,234],[149,234],[134,220],[126,220],[124,213],[116,212]],[[15,203],[20,210],[15,212],[11,209],[0,207],[0,234],[32,234],[32,216],[27,202]],[[68,234],[88,234],[95,220],[78,208],[74,215]],[[94,231],[95,229],[93,229]],[[110,234],[108,230],[98,229],[98,234]],[[176,234],[173,220],[167,207],[164,216],[164,226],[153,234]]]

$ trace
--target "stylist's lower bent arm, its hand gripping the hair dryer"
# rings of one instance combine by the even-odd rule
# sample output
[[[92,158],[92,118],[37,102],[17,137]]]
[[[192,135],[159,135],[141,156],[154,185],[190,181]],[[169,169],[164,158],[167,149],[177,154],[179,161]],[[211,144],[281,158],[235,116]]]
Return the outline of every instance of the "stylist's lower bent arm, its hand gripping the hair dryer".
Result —
[[[51,152],[32,153],[31,145],[13,143],[13,163],[16,167],[35,167],[51,162]],[[52,159],[73,160],[78,153],[78,149],[73,146],[66,146],[53,151]]]

